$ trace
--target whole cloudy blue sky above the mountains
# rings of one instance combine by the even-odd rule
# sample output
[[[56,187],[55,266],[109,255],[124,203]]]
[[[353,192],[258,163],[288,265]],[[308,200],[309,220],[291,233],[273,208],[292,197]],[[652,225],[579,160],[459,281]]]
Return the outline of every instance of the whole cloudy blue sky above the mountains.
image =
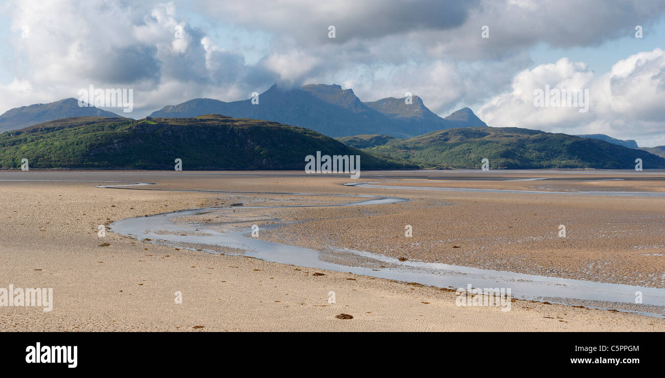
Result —
[[[494,127],[665,145],[664,16],[662,0],[0,0],[0,113],[90,85],[132,89],[132,112],[104,109],[143,118],[275,82],[340,84]],[[547,89],[588,108],[537,106]]]

